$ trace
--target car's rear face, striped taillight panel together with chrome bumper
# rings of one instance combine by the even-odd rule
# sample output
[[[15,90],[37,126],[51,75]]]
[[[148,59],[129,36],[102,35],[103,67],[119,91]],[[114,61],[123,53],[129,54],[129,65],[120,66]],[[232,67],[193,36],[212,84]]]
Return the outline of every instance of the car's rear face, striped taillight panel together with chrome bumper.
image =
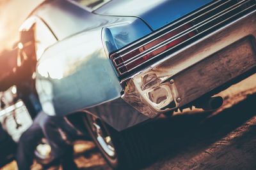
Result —
[[[152,118],[255,73],[255,11],[255,0],[214,1],[112,53],[122,99]]]

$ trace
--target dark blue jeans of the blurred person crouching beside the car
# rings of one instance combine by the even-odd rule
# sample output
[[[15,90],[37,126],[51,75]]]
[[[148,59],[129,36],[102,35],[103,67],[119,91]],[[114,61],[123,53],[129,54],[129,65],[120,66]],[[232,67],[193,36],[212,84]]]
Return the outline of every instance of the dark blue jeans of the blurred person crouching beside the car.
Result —
[[[38,113],[31,127],[20,137],[16,155],[19,170],[30,169],[35,148],[42,138],[47,139],[51,146],[51,154],[56,159],[70,150],[70,145],[62,138],[60,129],[68,139],[77,135],[76,129],[65,117],[51,117],[43,111]]]

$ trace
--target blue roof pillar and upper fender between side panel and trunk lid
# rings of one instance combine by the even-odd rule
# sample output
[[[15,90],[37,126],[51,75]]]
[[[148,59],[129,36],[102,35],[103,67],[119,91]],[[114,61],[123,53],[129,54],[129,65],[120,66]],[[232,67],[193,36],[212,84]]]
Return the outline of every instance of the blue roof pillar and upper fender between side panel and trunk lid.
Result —
[[[60,41],[79,32],[109,27],[113,30],[115,44],[120,48],[151,32],[140,18],[96,15],[65,0],[52,0],[42,4],[33,15],[42,18]]]

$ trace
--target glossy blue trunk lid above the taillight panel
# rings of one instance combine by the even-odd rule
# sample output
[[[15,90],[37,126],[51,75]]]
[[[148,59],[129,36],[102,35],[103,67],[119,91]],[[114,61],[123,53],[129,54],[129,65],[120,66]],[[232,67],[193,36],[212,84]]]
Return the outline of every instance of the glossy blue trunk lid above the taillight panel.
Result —
[[[101,15],[139,17],[156,30],[211,2],[212,0],[114,0],[94,12]]]

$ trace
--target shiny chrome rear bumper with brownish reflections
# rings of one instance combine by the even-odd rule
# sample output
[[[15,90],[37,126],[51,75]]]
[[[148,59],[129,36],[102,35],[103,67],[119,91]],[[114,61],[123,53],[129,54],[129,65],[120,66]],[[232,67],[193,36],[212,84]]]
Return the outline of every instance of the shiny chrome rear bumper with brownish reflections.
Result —
[[[122,99],[147,117],[177,110],[256,66],[256,11],[123,80]]]

